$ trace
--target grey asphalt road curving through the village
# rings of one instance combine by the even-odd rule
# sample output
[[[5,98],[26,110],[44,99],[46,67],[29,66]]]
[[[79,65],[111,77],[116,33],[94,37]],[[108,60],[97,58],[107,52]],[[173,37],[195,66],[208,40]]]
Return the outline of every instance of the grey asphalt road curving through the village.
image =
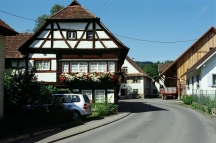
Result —
[[[172,100],[123,100],[132,114],[59,143],[216,143],[216,127],[204,114]]]

